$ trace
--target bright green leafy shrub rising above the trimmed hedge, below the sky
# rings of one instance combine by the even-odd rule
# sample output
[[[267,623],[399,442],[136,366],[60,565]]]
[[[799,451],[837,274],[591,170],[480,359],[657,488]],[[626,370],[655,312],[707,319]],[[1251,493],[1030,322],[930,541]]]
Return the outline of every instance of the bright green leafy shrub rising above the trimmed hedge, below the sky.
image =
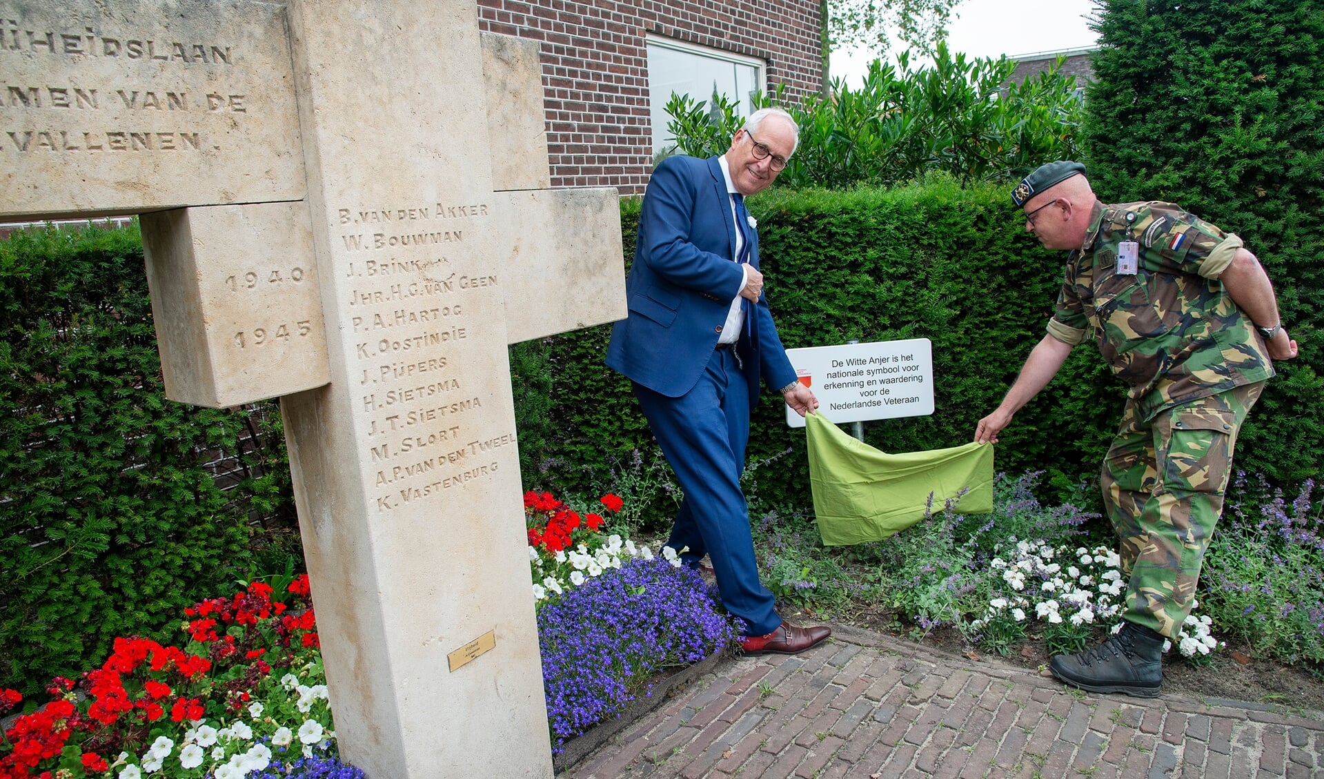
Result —
[[[932,68],[875,60],[859,89],[831,99],[782,105],[800,125],[800,146],[779,176],[782,188],[894,185],[933,171],[961,182],[1014,180],[1043,160],[1076,154],[1082,107],[1075,78],[1057,68],[1005,85],[1016,62],[972,60],[939,44]],[[781,95],[755,101],[781,105]],[[722,154],[743,121],[715,95],[673,95],[667,130],[685,154]]]

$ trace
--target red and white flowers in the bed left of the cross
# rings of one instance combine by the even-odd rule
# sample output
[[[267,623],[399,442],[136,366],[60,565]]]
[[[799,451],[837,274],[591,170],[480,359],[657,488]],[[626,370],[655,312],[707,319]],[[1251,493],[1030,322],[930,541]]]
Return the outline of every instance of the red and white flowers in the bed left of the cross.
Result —
[[[187,608],[184,648],[115,639],[101,668],[56,678],[52,701],[5,731],[0,779],[240,779],[295,763],[311,776],[335,762],[307,576],[282,584]],[[0,713],[19,702],[4,690]]]

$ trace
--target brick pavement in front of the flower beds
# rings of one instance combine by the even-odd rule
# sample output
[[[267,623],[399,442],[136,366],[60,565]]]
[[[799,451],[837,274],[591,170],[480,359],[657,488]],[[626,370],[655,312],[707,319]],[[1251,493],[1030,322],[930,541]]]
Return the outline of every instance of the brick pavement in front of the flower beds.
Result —
[[[1035,672],[857,628],[735,657],[565,779],[1324,779],[1324,713],[1068,692]]]

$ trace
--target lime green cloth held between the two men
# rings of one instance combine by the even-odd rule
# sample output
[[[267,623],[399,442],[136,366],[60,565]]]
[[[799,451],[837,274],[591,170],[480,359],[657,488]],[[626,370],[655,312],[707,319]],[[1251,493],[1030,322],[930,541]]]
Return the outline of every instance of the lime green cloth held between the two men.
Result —
[[[847,436],[822,413],[805,417],[805,436],[814,514],[826,546],[882,541],[906,530],[924,518],[929,495],[933,510],[941,511],[968,488],[953,511],[993,510],[992,444],[887,454]]]

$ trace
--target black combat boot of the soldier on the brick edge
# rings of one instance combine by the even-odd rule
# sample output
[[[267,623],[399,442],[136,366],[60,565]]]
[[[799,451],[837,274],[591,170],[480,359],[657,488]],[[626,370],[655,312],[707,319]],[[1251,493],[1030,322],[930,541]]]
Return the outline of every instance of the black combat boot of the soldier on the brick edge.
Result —
[[[1124,621],[1121,631],[1099,647],[1054,657],[1049,670],[1063,682],[1091,693],[1156,698],[1162,685],[1162,643],[1160,633]]]

